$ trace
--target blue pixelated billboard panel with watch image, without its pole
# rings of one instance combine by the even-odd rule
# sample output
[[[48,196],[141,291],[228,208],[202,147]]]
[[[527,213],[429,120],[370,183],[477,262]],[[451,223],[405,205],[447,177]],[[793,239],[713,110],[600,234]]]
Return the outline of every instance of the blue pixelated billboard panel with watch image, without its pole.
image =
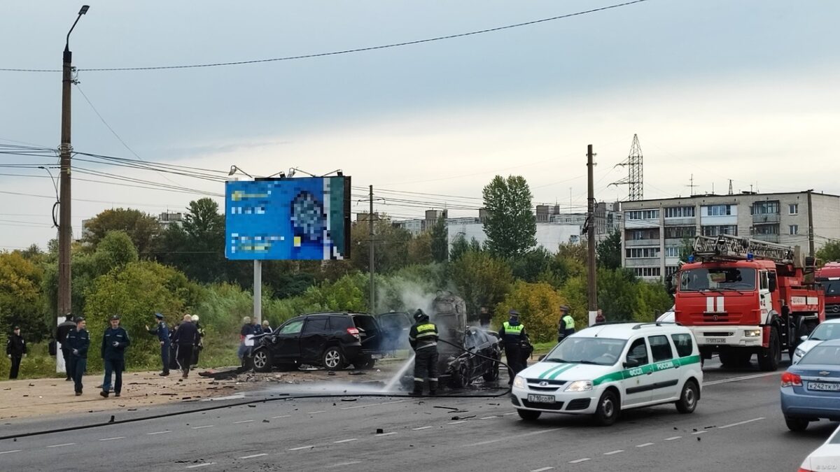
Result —
[[[228,181],[224,195],[228,259],[349,258],[349,177]]]

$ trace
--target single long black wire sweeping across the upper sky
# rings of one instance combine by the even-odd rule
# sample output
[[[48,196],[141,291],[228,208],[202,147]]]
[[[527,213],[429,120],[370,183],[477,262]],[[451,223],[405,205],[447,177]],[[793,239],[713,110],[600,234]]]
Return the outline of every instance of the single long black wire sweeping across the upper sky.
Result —
[[[524,23],[517,23],[517,24],[507,24],[505,26],[499,26],[496,28],[489,28],[489,29],[479,29],[476,31],[470,31],[468,33],[459,33],[459,34],[448,34],[446,36],[436,36],[433,38],[427,39],[416,39],[413,41],[403,41],[400,43],[391,43],[388,45],[378,45],[378,46],[370,46],[365,48],[354,48],[349,50],[337,50],[337,51],[330,51],[330,52],[322,52],[317,54],[307,54],[307,55],[290,55],[286,57],[276,57],[272,59],[255,59],[255,60],[235,60],[231,62],[213,62],[208,64],[190,64],[190,65],[181,65],[181,66],[149,66],[149,67],[99,67],[99,68],[91,68],[91,69],[78,69],[78,71],[86,71],[86,72],[103,72],[103,71],[160,71],[160,70],[171,70],[171,69],[197,69],[202,67],[219,67],[219,66],[244,66],[247,64],[260,64],[264,62],[278,62],[282,60],[298,60],[298,59],[312,59],[316,57],[325,57],[329,55],[345,55],[345,54],[352,54],[357,52],[365,52],[371,50],[384,50],[402,46],[410,46],[410,45],[421,45],[424,43],[432,43],[434,41],[442,41],[444,39],[456,39],[456,38],[464,38],[465,36],[474,36],[476,34],[486,34],[486,33],[493,33],[496,31],[501,31],[503,29],[513,29],[513,28],[520,28],[523,26],[531,26],[533,24],[541,24],[546,23],[549,21],[555,21],[564,18],[571,18],[575,16],[585,15],[589,13],[596,13],[601,12],[604,10],[610,10],[612,8],[621,8],[627,7],[628,5],[633,5],[634,3],[643,3],[647,2],[648,0],[633,0],[632,2],[625,2],[625,3],[617,3],[615,5],[608,5],[606,7],[601,8],[592,8],[591,10],[584,10],[581,12],[575,13],[567,13],[564,15],[559,15],[551,18],[542,18],[536,19],[533,21],[527,21]],[[0,68],[0,71],[7,71],[7,72],[60,72],[58,69],[13,69],[13,68]]]

